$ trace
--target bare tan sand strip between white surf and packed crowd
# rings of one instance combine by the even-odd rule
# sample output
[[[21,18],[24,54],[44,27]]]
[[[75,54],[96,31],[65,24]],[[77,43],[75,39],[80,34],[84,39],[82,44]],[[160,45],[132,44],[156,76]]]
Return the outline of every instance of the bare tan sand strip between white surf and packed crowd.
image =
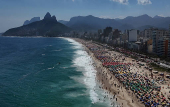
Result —
[[[88,55],[92,58],[94,62],[94,67],[96,69],[96,81],[101,84],[99,88],[107,91],[108,94],[105,97],[108,97],[111,102],[117,102],[119,107],[144,107],[144,105],[140,102],[138,102],[138,99],[135,98],[135,95],[129,93],[121,83],[115,78],[113,74],[109,72],[109,70],[102,66],[102,62],[100,62],[95,56],[94,53],[92,53],[88,47],[83,44],[85,42],[82,39],[77,38],[71,38],[75,41],[82,44],[85,51],[88,53]],[[115,51],[112,51],[113,53],[118,53]],[[111,96],[111,97],[109,97]],[[99,99],[100,100],[100,99]],[[133,103],[132,103],[133,100]],[[115,106],[113,103],[111,103],[111,106]]]

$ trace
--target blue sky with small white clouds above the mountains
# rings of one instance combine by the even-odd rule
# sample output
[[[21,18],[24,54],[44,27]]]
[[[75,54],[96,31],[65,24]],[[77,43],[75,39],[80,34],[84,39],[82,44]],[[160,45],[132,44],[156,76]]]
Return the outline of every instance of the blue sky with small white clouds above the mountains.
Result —
[[[170,0],[0,0],[0,33],[22,26],[47,12],[57,20],[93,15],[100,18],[125,18],[148,14],[170,16]]]

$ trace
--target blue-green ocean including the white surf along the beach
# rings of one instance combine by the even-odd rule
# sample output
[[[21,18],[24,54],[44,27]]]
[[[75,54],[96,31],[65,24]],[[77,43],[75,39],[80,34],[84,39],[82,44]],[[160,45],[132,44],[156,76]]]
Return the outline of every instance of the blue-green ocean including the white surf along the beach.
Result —
[[[0,107],[109,107],[92,63],[69,38],[0,36]]]

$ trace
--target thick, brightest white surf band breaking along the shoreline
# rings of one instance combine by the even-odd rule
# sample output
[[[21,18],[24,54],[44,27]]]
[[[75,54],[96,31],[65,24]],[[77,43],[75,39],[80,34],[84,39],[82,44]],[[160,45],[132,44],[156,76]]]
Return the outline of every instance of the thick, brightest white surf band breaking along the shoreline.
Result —
[[[96,87],[96,82],[95,82],[95,75],[96,75],[96,70],[92,66],[92,59],[90,56],[88,56],[87,52],[82,50],[82,45],[73,39],[65,38],[70,44],[73,45],[74,49],[78,49],[75,52],[75,59],[73,60],[74,66],[77,66],[77,68],[81,67],[84,69],[83,75],[83,83],[87,86],[89,89],[89,94],[90,94],[90,99],[92,103],[98,102],[98,94],[94,91],[94,88]],[[79,70],[79,69],[77,69]]]

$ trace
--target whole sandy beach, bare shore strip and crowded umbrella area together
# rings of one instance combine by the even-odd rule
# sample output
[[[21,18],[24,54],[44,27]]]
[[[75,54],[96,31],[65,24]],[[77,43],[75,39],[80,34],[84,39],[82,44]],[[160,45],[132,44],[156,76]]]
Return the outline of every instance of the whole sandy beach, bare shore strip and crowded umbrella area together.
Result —
[[[116,101],[119,107],[164,107],[169,104],[169,80],[162,77],[166,83],[159,84],[159,74],[146,69],[147,63],[92,41],[74,40],[81,43],[93,59],[97,70],[96,81],[101,84],[99,88],[106,91],[104,98]]]

